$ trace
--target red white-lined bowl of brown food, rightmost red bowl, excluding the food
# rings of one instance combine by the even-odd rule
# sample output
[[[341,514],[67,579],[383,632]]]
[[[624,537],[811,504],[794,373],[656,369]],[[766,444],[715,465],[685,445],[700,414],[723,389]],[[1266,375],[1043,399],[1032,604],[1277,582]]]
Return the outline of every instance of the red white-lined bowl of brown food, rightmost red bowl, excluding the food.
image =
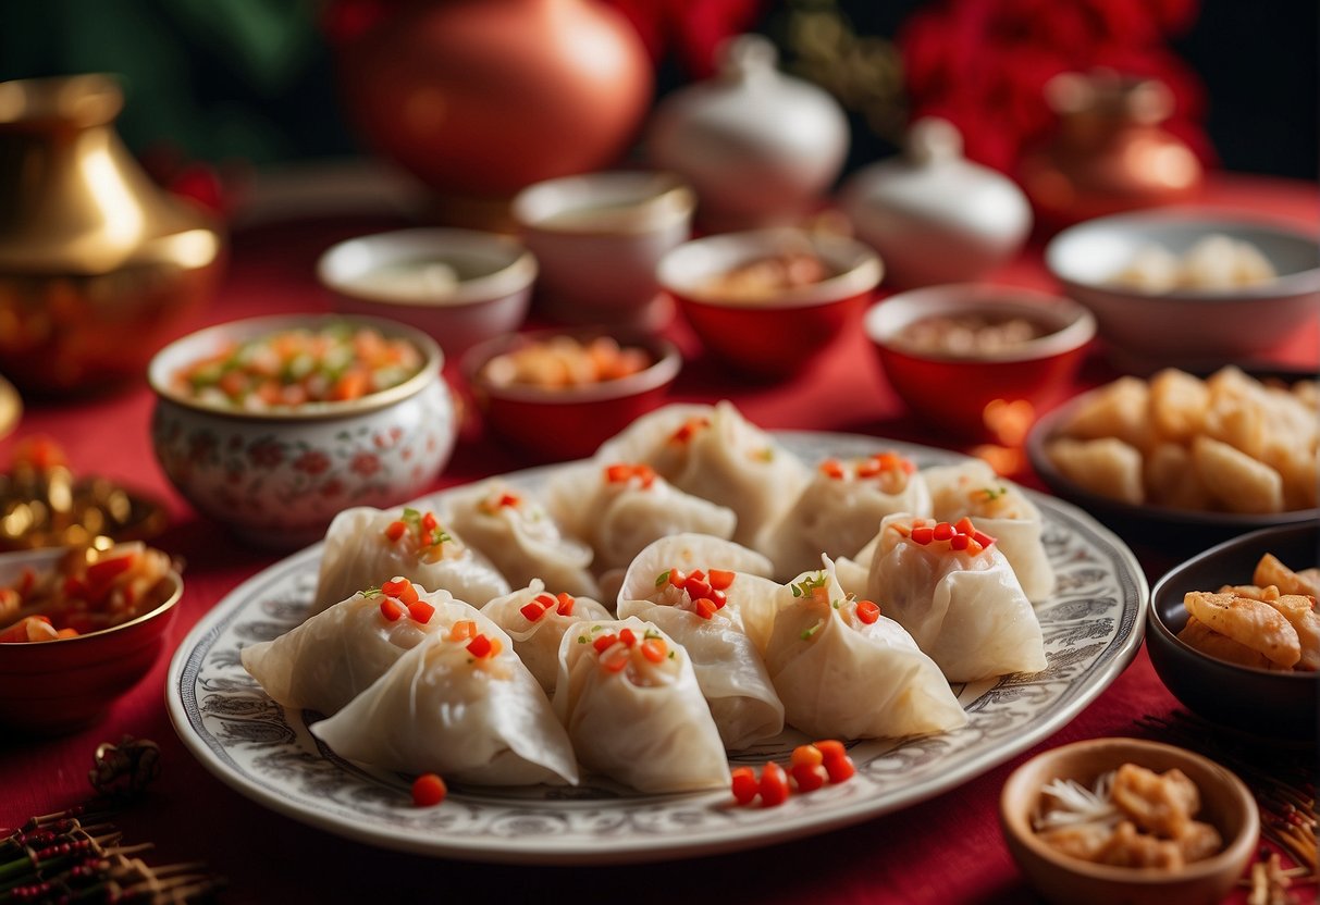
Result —
[[[993,352],[965,355],[917,351],[903,340],[903,331],[917,321],[969,314],[1024,318],[1044,332]],[[1056,401],[1096,335],[1090,311],[1071,299],[983,284],[891,296],[866,313],[863,325],[890,385],[913,414],[970,439],[995,438],[997,401],[1024,401],[1034,410]]]

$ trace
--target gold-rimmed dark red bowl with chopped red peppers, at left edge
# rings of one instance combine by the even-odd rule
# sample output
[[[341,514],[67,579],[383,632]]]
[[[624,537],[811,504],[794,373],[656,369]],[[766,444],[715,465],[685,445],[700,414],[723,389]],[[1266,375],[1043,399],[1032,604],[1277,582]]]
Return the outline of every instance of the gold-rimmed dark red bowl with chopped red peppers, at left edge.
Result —
[[[140,541],[0,554],[0,730],[90,726],[169,645],[178,566]]]

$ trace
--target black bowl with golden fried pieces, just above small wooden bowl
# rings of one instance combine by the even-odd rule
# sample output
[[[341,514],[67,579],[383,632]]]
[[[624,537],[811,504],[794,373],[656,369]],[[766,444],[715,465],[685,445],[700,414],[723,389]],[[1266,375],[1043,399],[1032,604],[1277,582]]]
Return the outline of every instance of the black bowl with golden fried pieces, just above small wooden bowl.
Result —
[[[1316,737],[1320,526],[1243,534],[1176,566],[1151,592],[1146,645],[1160,679],[1205,719]]]

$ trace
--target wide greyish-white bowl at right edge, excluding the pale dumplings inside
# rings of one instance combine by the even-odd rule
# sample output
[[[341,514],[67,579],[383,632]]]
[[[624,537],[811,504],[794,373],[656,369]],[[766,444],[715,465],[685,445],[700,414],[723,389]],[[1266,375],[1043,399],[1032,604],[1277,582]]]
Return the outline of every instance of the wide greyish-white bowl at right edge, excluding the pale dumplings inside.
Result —
[[[1138,249],[1183,255],[1210,235],[1253,244],[1278,278],[1225,290],[1150,293],[1109,281]],[[1135,372],[1251,359],[1320,323],[1320,248],[1298,227],[1213,210],[1170,208],[1088,220],[1045,249],[1049,272],[1096,314],[1117,360]]]

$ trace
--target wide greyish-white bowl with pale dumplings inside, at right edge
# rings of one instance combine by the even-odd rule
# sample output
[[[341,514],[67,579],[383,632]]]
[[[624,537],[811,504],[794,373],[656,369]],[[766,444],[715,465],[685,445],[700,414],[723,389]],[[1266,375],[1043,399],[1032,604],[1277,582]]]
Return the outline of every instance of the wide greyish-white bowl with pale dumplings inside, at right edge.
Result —
[[[1051,240],[1045,265],[1133,372],[1265,356],[1320,310],[1315,232],[1233,212],[1088,220]]]

